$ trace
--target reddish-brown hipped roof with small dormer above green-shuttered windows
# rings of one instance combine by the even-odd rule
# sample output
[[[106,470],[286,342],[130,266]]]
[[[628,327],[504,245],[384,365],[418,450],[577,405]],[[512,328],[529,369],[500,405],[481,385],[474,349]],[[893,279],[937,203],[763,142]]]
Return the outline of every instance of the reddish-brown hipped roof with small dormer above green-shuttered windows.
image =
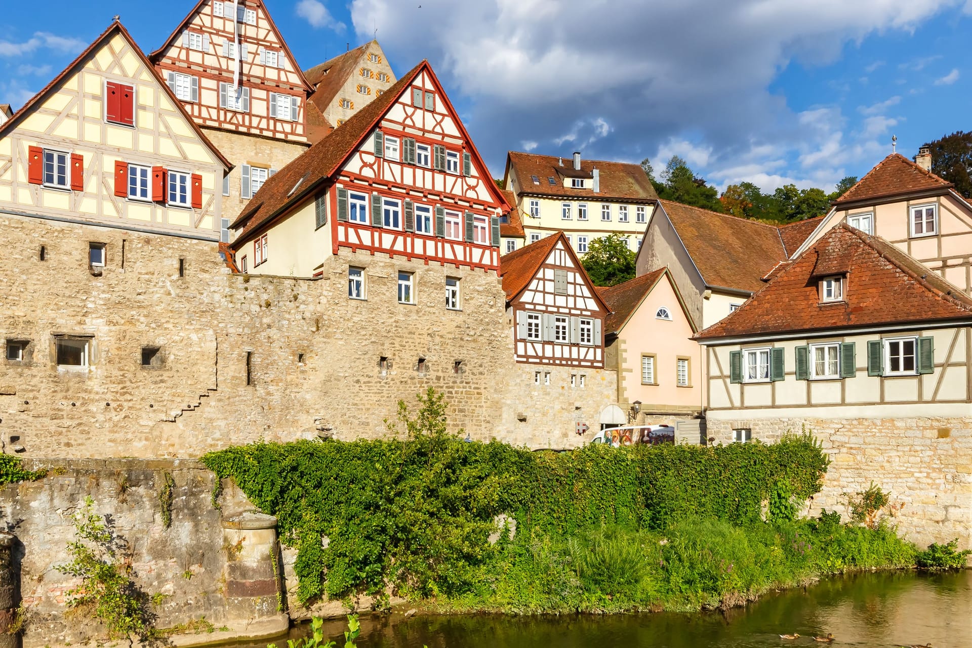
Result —
[[[819,303],[815,268],[821,259],[843,259],[846,301]],[[884,239],[841,223],[743,306],[696,338],[958,319],[972,319],[972,298]]]

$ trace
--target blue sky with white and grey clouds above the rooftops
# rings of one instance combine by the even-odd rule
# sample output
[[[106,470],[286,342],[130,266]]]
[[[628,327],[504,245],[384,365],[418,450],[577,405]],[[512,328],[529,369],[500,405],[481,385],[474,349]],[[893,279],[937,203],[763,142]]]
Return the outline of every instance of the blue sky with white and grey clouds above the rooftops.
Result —
[[[115,14],[153,51],[194,3],[4,4],[0,103],[19,106]],[[972,129],[972,0],[266,4],[303,67],[375,29],[397,73],[428,58],[498,176],[510,149],[656,169],[677,153],[720,188],[830,188],[892,134],[911,156]]]

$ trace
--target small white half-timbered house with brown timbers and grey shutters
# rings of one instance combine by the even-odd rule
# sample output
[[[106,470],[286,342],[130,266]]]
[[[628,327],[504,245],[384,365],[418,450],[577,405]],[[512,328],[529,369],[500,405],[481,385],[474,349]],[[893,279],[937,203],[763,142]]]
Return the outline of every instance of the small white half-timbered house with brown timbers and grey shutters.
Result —
[[[503,256],[516,361],[604,368],[608,307],[563,232]]]

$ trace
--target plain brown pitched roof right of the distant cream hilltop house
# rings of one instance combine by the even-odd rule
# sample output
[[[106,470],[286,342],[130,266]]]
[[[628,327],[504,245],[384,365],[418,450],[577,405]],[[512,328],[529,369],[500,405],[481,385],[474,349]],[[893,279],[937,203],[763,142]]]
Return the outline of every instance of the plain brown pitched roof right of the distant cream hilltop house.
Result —
[[[707,286],[760,290],[762,278],[786,258],[780,230],[774,225],[671,200],[659,204]]]

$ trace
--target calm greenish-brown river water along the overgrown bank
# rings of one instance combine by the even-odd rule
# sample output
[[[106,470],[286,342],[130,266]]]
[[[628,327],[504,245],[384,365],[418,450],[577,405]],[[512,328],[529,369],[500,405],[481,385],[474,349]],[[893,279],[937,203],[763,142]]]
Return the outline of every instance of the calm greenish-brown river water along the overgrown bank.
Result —
[[[344,645],[342,621],[327,622],[325,630],[331,639],[339,639],[339,647]],[[291,636],[302,631],[295,629]],[[801,637],[787,641],[779,636],[794,632]],[[934,576],[885,572],[832,578],[806,590],[763,597],[746,607],[702,614],[362,617],[358,646],[779,648],[822,646],[811,637],[828,632],[833,633],[835,646],[931,643],[933,648],[972,648],[972,570]],[[286,647],[286,639],[277,645]]]

